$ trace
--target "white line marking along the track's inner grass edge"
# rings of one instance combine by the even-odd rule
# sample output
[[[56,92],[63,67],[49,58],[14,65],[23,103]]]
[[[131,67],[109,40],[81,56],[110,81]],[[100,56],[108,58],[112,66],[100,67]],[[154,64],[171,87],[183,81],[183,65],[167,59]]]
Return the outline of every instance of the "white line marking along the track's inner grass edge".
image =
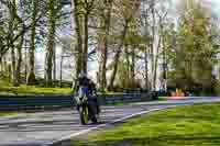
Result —
[[[131,117],[134,117],[134,116],[139,116],[139,115],[142,115],[142,114],[146,114],[146,113],[150,113],[150,112],[154,112],[154,111],[160,111],[160,110],[164,110],[164,109],[167,109],[167,108],[172,108],[172,106],[166,106],[166,108],[156,108],[156,109],[151,109],[148,111],[142,111],[142,112],[139,112],[139,113],[134,113],[134,114],[131,114],[131,115],[128,115],[128,116],[124,116],[124,117],[121,117],[121,119],[118,119],[118,120],[114,120],[112,122],[109,122],[109,123],[106,123],[106,124],[100,124],[100,125],[97,125],[95,127],[90,127],[90,128],[87,128],[87,130],[82,130],[78,133],[73,133],[70,135],[67,135],[67,136],[63,136],[61,137],[59,139],[55,139],[55,141],[52,141],[51,143],[47,143],[43,146],[52,146],[54,144],[57,144],[59,142],[63,142],[65,139],[70,139],[73,137],[76,137],[76,136],[79,136],[79,135],[82,135],[82,134],[87,134],[91,131],[95,131],[95,130],[98,130],[98,128],[101,128],[101,127],[107,127],[108,125],[112,125],[114,123],[118,123],[118,122],[122,122],[122,121],[125,121],[128,119],[131,119]]]

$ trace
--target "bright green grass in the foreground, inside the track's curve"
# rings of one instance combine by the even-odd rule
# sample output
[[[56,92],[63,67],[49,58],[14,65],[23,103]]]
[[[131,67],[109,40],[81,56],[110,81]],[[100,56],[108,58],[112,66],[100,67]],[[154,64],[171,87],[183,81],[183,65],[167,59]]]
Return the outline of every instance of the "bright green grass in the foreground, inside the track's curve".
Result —
[[[220,104],[179,106],[133,119],[90,134],[74,145],[94,146],[219,146]]]

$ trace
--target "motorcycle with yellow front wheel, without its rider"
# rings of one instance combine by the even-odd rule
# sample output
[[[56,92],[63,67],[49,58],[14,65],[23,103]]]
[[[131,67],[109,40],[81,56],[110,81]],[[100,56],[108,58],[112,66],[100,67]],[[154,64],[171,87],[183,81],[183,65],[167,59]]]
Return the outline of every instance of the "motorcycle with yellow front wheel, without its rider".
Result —
[[[98,122],[98,110],[96,103],[92,100],[94,93],[90,93],[87,87],[81,87],[79,89],[79,104],[78,112],[80,117],[80,123],[82,125],[88,124],[89,121],[92,123]]]

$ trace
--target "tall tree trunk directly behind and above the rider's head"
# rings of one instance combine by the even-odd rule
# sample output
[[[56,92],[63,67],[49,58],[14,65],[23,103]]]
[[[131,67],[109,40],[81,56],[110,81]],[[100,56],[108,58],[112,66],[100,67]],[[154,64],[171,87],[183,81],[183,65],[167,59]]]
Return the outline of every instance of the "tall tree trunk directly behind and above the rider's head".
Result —
[[[80,71],[87,72],[88,63],[88,42],[89,42],[89,16],[94,10],[96,0],[72,0],[74,10],[74,24],[76,32],[76,75],[78,78]],[[73,88],[75,89],[75,82]]]

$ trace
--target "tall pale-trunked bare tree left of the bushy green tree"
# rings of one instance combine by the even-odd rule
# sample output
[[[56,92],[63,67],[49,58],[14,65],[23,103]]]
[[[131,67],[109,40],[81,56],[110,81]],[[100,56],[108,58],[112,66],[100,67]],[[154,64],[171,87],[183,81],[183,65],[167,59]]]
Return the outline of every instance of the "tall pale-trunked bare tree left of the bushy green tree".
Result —
[[[170,0],[143,0],[141,7],[142,35],[145,40],[145,88],[155,90],[158,81],[158,64],[163,48],[163,27],[169,24],[168,20]],[[150,82],[150,83],[148,83]]]

